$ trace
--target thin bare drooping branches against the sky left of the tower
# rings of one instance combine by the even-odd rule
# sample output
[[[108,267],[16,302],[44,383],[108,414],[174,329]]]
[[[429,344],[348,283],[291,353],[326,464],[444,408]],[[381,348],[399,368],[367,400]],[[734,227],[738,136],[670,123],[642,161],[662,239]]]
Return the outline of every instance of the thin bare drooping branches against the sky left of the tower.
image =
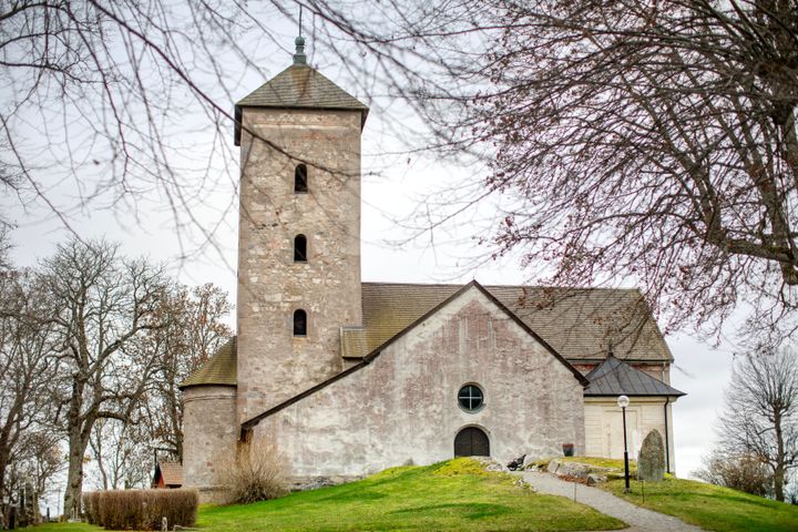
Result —
[[[332,3],[311,8],[330,21],[318,35],[327,42],[347,29],[347,6]],[[238,83],[246,71],[274,75],[265,68],[274,48],[289,59],[296,31],[280,34],[276,22],[298,14],[294,0],[3,3],[0,190],[68,227],[88,208],[137,216],[157,198],[181,245],[187,229],[202,232],[200,246],[216,245],[224,224],[202,213],[237,207]]]

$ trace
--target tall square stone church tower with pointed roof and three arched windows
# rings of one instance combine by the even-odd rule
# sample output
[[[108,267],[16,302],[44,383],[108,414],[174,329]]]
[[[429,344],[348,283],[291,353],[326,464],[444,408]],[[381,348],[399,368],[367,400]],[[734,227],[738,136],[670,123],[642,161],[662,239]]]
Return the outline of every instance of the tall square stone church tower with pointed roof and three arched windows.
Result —
[[[241,100],[238,422],[344,369],[359,326],[360,133],[368,108],[306,64]]]

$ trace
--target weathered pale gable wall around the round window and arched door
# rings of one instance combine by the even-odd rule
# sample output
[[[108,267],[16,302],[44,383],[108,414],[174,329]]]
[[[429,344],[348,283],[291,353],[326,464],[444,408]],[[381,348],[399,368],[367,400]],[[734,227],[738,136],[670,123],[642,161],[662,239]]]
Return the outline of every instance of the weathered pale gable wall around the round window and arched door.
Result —
[[[478,383],[480,411],[458,405]],[[453,456],[457,433],[481,428],[507,462],[584,450],[582,385],[477,288],[397,339],[369,366],[264,419],[255,444],[276,442],[290,473],[357,477]]]

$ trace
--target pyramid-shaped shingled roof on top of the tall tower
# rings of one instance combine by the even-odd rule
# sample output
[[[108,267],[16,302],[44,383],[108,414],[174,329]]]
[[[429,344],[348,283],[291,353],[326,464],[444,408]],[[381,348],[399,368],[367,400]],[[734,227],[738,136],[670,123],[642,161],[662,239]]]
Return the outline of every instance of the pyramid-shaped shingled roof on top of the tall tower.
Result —
[[[293,64],[235,104],[235,145],[241,145],[241,121],[244,108],[334,109],[360,111],[360,126],[366,124],[368,106],[332,83],[318,70]]]

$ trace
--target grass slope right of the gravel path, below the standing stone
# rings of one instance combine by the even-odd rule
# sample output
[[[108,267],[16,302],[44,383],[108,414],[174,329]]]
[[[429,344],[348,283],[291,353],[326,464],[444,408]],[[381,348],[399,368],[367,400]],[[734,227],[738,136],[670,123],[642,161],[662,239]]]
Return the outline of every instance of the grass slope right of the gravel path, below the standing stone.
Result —
[[[601,488],[637,505],[667,513],[687,523],[718,532],[798,531],[798,507],[694,480],[667,478],[662,482],[611,480]],[[645,491],[645,502],[644,502]]]

